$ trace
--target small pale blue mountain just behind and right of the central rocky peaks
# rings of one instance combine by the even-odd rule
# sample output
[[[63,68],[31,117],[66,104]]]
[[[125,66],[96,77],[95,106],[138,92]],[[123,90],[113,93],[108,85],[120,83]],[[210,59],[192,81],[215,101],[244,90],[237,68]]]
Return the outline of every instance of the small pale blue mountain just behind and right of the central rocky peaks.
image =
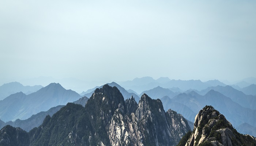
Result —
[[[153,99],[160,99],[163,96],[174,97],[176,95],[174,92],[170,91],[170,89],[162,88],[160,86],[150,89],[148,91],[143,91],[140,96],[143,95],[143,93],[146,93]]]

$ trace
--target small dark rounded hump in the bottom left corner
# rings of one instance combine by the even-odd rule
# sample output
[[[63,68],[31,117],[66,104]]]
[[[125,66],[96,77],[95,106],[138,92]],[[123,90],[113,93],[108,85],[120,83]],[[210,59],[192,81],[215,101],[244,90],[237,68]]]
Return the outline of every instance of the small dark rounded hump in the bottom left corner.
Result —
[[[28,146],[29,134],[21,128],[10,125],[3,127],[0,131],[0,146]]]

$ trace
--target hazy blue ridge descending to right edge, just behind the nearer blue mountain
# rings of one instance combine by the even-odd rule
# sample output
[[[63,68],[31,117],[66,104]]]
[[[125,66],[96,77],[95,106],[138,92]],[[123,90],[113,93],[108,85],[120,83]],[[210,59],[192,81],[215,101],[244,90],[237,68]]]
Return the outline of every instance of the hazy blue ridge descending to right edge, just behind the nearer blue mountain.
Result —
[[[199,93],[200,95],[205,95],[210,90],[218,91],[222,93],[223,95],[229,97],[236,103],[239,103],[242,105],[242,107],[251,108],[252,110],[256,110],[256,98],[252,95],[245,95],[243,92],[238,91],[237,89],[234,89],[233,87],[227,85],[225,87],[223,86],[216,86],[216,87],[208,87],[207,89],[204,89]]]

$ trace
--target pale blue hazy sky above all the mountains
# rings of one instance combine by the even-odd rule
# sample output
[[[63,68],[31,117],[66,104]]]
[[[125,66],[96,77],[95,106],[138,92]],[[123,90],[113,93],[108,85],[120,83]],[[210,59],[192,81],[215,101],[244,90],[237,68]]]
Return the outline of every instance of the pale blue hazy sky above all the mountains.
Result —
[[[0,79],[256,77],[256,1],[0,0]]]

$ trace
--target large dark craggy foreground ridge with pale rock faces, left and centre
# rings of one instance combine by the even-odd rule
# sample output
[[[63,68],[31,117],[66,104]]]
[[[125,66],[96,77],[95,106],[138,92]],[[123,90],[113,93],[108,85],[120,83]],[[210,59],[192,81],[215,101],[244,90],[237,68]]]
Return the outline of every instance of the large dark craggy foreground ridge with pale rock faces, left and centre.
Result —
[[[187,120],[165,112],[161,100],[143,94],[137,104],[133,97],[124,100],[117,87],[104,85],[85,107],[68,103],[29,132],[3,127],[0,146],[174,146],[189,130]]]

